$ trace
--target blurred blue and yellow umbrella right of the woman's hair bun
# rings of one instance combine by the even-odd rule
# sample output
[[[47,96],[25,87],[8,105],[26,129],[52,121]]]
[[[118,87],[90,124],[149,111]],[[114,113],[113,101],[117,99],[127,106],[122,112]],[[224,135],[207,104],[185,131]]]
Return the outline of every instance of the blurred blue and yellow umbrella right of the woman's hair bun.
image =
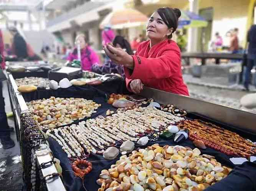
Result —
[[[178,28],[199,28],[206,27],[208,22],[205,18],[190,11],[182,11],[178,21]]]

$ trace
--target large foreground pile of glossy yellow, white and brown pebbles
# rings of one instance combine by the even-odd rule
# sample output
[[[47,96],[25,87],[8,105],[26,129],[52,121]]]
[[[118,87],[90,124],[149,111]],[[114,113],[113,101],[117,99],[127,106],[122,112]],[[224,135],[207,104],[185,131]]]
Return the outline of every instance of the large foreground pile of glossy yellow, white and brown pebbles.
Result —
[[[98,191],[202,191],[232,170],[213,156],[200,154],[197,148],[159,144],[132,151],[101,171]]]

